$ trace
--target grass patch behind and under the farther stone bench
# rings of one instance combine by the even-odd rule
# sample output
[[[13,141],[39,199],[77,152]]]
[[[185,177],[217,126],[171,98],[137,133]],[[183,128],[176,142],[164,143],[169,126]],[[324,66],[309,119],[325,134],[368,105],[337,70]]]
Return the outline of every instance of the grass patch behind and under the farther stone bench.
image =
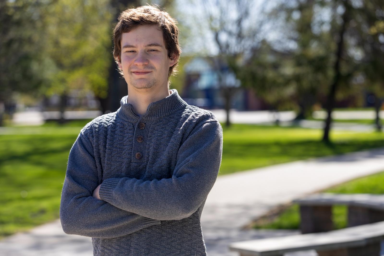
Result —
[[[341,185],[329,188],[329,193],[370,193],[384,194],[384,172],[358,178]],[[335,229],[345,228],[347,224],[347,207],[336,205],[332,209]],[[298,204],[293,204],[282,211],[276,218],[261,218],[253,225],[257,229],[299,229],[300,213]]]

